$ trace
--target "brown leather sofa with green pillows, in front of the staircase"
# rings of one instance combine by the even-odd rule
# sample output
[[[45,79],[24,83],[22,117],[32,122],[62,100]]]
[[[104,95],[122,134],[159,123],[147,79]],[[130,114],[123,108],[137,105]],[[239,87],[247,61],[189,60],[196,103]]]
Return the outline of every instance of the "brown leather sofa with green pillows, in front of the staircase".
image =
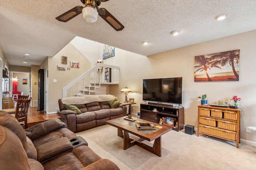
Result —
[[[127,107],[125,103],[116,108],[111,108],[107,101],[91,102],[87,104],[74,104],[81,114],[67,110],[62,99],[58,100],[61,120],[66,123],[72,132],[84,131],[96,126],[104,125],[105,121],[126,116]]]

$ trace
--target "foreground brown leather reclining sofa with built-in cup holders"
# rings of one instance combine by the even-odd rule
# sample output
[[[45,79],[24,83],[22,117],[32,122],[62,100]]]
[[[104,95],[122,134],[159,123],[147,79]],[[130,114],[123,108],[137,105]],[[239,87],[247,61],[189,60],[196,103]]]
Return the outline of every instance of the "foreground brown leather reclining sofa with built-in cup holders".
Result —
[[[98,156],[59,119],[24,130],[17,119],[0,112],[0,150],[3,170],[119,170],[112,161]]]

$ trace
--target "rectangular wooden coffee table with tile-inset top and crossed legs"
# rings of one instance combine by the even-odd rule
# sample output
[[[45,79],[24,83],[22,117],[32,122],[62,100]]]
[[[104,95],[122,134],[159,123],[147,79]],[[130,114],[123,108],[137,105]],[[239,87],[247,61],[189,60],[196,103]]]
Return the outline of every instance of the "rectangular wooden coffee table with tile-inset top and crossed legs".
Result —
[[[154,126],[159,125],[157,123],[153,123],[150,121],[145,121],[143,119],[137,119],[140,120],[140,123],[152,123]],[[138,145],[157,156],[162,156],[162,146],[161,146],[161,136],[167,133],[168,131],[172,130],[172,127],[168,127],[165,125],[160,125],[162,128],[156,128],[156,130],[137,130],[136,122],[129,121],[124,119],[124,117],[120,117],[117,119],[112,119],[106,121],[106,124],[117,127],[117,135],[119,137],[122,137],[124,139],[124,150],[132,147],[133,145]],[[124,132],[124,133],[123,133]],[[137,137],[140,137],[139,140],[132,139],[129,136],[129,133],[132,135],[135,135]],[[148,146],[142,141],[154,141],[153,147]]]

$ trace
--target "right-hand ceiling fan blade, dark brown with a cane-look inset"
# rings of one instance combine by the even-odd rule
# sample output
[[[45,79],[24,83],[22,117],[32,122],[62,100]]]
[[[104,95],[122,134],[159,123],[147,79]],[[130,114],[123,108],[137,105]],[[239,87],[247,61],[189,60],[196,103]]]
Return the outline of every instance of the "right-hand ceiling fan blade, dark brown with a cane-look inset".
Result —
[[[112,26],[116,31],[121,31],[124,29],[124,25],[120,23],[112,14],[110,14],[105,8],[98,9],[99,16],[103,18],[110,26]]]

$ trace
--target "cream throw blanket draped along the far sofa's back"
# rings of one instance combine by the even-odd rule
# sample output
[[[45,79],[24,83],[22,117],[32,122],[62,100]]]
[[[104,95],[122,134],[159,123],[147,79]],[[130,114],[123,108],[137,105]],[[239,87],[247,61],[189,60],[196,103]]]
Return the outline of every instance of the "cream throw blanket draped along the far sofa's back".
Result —
[[[62,98],[63,104],[88,104],[91,102],[105,102],[114,99],[115,96],[111,94],[106,95],[84,95]]]

